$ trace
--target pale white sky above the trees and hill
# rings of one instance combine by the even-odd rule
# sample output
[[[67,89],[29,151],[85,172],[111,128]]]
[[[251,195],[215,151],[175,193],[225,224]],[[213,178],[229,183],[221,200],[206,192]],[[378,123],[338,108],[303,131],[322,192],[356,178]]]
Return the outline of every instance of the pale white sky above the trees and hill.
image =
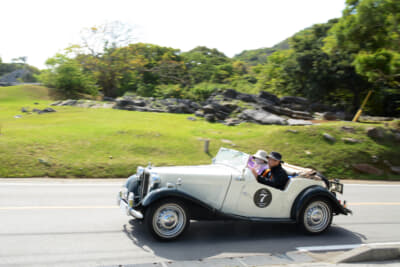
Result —
[[[345,0],[13,0],[0,1],[0,57],[47,58],[80,42],[82,29],[121,21],[137,42],[229,57],[271,47],[315,23],[341,16]]]

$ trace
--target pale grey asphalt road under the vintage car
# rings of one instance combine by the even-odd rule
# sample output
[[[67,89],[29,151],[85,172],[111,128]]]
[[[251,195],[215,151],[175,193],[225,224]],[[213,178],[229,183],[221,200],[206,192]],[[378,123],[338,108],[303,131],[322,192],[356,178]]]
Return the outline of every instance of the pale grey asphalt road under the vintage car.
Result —
[[[121,184],[0,179],[0,266],[218,265],[221,259],[246,266],[307,262],[307,250],[327,246],[400,243],[400,183],[346,184],[342,198],[354,215],[335,217],[320,236],[305,236],[293,225],[192,222],[173,243],[154,241],[144,225],[119,210]]]

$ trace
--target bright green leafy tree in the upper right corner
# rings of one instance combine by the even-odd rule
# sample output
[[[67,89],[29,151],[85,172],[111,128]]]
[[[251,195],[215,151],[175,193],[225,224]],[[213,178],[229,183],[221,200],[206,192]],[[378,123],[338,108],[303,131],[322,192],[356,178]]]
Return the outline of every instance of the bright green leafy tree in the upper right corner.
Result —
[[[372,99],[370,108],[393,114],[386,107],[400,94],[400,1],[348,0],[325,43],[325,51],[348,55],[347,63],[370,82],[360,92],[374,89],[373,97],[380,101]]]

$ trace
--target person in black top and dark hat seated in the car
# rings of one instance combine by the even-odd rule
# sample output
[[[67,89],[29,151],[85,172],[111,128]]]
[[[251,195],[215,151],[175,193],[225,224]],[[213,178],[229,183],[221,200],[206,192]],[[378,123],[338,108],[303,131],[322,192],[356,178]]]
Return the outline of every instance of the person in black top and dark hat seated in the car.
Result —
[[[259,183],[283,190],[289,177],[286,171],[282,168],[282,156],[278,152],[271,152],[267,158],[269,169],[258,174],[255,168],[250,168],[251,172]]]

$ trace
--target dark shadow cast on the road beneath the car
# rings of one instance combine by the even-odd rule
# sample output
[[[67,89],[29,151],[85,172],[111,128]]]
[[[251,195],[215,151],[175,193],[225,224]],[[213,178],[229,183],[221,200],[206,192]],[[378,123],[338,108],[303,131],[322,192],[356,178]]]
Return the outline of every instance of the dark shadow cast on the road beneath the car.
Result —
[[[359,244],[365,239],[335,225],[322,235],[308,236],[296,225],[244,221],[192,221],[186,234],[173,242],[156,241],[146,226],[135,220],[124,226],[124,232],[136,246],[173,261],[198,260],[222,253],[285,253],[303,246]]]

